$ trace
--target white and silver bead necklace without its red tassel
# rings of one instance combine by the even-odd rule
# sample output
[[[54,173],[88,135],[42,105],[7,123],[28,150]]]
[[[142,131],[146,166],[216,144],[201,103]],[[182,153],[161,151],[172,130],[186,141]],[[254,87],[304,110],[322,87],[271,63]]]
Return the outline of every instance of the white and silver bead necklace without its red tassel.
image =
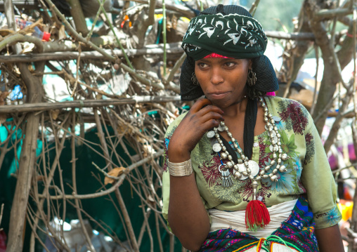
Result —
[[[281,164],[282,160],[287,160],[287,154],[283,154],[283,150],[281,149],[281,142],[280,142],[280,133],[278,132],[278,128],[275,126],[275,121],[271,113],[268,112],[268,107],[264,102],[264,99],[259,97],[259,102],[261,103],[261,107],[264,109],[264,121],[266,122],[266,129],[268,131],[268,135],[271,142],[271,150],[273,152],[273,160],[265,166],[264,169],[261,171],[259,165],[256,161],[249,160],[248,157],[245,157],[242,149],[237,144],[235,138],[231,132],[228,131],[228,127],[221,121],[218,128],[214,128],[213,131],[209,131],[207,136],[209,138],[215,137],[217,142],[214,143],[212,149],[214,152],[218,152],[220,154],[221,159],[228,159],[226,164],[221,162],[219,166],[219,171],[222,175],[222,185],[223,187],[230,187],[233,185],[233,181],[231,178],[231,174],[229,172],[229,168],[233,167],[233,176],[235,179],[245,180],[249,178],[252,180],[252,187],[253,187],[253,200],[257,197],[257,187],[258,181],[262,178],[270,178],[271,181],[278,181],[278,176],[276,173],[278,171],[285,172],[287,168]],[[231,142],[233,143],[233,150],[236,150],[240,154],[240,158],[238,158],[238,164],[235,164],[233,161],[233,157],[229,152],[226,150],[226,146],[223,145],[223,141],[221,140],[221,136],[219,135],[218,131],[226,131],[229,138],[231,138]],[[221,152],[221,153],[220,153]],[[276,164],[276,167],[273,168],[271,173],[266,174],[271,168]],[[221,168],[223,166],[223,168]]]

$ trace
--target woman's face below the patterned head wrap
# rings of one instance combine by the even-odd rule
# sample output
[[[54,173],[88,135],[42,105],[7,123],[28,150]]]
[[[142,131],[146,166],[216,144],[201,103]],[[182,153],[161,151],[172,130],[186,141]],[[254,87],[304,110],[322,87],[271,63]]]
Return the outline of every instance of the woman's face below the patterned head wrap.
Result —
[[[246,59],[202,58],[195,62],[195,74],[207,99],[223,109],[242,100],[251,65]]]

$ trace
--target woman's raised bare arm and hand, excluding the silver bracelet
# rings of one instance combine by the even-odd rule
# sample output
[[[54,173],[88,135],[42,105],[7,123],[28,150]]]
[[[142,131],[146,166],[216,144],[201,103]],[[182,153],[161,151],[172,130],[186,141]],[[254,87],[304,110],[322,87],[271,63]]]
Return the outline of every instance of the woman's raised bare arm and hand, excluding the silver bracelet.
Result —
[[[219,107],[210,105],[207,99],[198,100],[171,136],[168,157],[171,163],[190,159],[190,152],[212,127],[223,121]],[[204,107],[207,105],[207,107]],[[195,175],[175,177],[170,175],[168,221],[172,232],[181,244],[192,251],[200,249],[209,233],[209,217]]]

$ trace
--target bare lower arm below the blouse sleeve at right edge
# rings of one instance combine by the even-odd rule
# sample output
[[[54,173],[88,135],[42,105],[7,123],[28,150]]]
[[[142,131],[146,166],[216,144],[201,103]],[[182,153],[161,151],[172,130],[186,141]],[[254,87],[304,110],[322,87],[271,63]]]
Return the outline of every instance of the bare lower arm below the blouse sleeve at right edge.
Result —
[[[320,252],[344,252],[344,245],[342,244],[338,225],[315,230],[315,234],[318,239],[318,249]]]

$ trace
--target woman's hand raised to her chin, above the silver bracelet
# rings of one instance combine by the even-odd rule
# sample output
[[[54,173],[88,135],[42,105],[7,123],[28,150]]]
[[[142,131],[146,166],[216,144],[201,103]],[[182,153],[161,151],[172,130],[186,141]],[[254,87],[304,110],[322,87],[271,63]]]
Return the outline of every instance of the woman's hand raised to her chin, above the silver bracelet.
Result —
[[[171,136],[169,161],[178,163],[190,159],[190,152],[202,136],[224,120],[222,115],[223,111],[208,99],[197,100]]]

